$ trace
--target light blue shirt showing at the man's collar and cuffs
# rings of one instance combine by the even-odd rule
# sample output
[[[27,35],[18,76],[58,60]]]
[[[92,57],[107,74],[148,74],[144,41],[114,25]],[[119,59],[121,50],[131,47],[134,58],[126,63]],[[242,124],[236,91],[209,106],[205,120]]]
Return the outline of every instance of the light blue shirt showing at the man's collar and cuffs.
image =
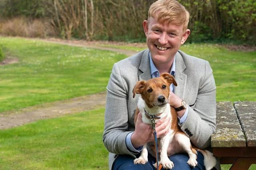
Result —
[[[155,66],[155,64],[154,64],[154,62],[153,62],[153,60],[151,58],[150,53],[149,53],[149,61],[150,61],[151,78],[159,77],[160,76],[160,72],[157,70],[157,68],[156,68],[156,66]],[[174,61],[172,63],[172,68],[171,68],[171,71],[170,71],[170,74],[172,74],[173,76],[175,76],[175,68],[176,68],[176,57],[174,57]],[[174,92],[174,85],[173,84],[170,85],[170,90],[172,90],[172,92]],[[178,117],[180,125],[182,125],[182,123],[184,123],[184,121],[186,120],[187,116],[188,116],[188,108],[186,109],[184,115],[181,118]],[[132,139],[131,139],[133,133],[134,132],[131,132],[131,133],[129,133],[126,136],[126,146],[127,146],[127,148],[130,151],[132,151],[134,153],[138,153],[138,152],[140,152],[142,150],[143,146],[141,146],[139,148],[134,148],[133,147]]]

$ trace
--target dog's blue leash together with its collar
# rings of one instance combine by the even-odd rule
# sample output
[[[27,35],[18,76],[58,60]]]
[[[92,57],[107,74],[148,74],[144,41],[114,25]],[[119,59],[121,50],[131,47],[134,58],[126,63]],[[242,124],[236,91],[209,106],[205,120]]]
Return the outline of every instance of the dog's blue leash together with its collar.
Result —
[[[153,135],[154,135],[154,144],[155,144],[155,153],[156,153],[156,170],[161,170],[162,168],[162,165],[158,165],[158,146],[157,146],[157,137],[156,137],[156,119],[160,119],[161,117],[157,116],[157,115],[150,115],[148,114],[148,112],[144,109],[145,111],[145,114],[148,118],[150,118],[150,121],[151,121],[151,126],[152,126],[152,129],[154,130],[153,132]]]

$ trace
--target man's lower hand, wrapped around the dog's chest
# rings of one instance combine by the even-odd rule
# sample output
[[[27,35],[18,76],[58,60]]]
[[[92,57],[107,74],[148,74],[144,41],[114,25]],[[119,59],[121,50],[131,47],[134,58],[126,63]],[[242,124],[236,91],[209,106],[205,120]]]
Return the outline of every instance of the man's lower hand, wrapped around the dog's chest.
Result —
[[[135,131],[132,134],[131,140],[134,148],[141,147],[142,145],[154,141],[153,129],[151,125],[142,122],[141,113],[138,114]],[[163,117],[156,123],[157,138],[163,137],[170,130],[170,117]]]

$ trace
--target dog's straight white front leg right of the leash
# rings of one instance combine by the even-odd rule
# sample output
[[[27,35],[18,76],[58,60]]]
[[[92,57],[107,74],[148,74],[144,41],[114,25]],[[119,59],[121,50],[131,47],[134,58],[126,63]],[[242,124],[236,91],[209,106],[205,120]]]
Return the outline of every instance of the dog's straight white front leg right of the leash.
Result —
[[[174,164],[173,162],[168,158],[167,155],[167,149],[170,144],[170,141],[172,141],[174,137],[174,134],[172,134],[171,131],[169,131],[168,134],[166,134],[162,139],[161,139],[161,153],[160,153],[160,162],[163,166],[164,169],[172,169]]]

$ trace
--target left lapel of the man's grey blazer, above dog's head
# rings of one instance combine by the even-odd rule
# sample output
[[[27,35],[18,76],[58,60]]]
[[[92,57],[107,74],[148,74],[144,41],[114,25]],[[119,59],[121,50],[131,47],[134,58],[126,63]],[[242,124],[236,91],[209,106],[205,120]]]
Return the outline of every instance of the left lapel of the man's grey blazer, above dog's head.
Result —
[[[140,70],[140,72],[138,72],[139,80],[148,80],[151,78],[148,49],[142,55],[139,70]]]

